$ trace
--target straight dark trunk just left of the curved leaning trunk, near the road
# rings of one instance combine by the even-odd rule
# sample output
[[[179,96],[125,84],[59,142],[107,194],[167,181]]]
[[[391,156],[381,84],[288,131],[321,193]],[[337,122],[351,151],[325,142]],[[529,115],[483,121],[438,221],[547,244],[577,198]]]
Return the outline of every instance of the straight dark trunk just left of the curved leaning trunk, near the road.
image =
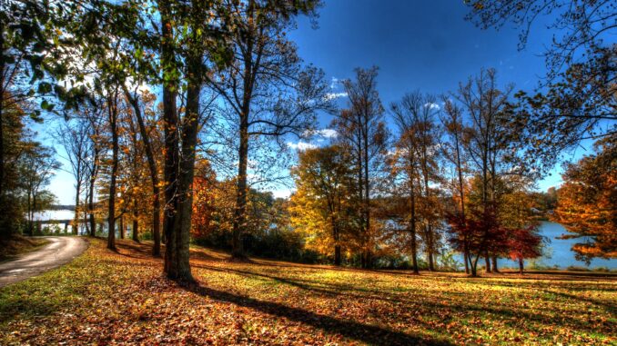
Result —
[[[117,96],[117,95],[116,95]],[[111,161],[111,177],[109,179],[109,208],[107,212],[107,249],[116,251],[116,174],[118,160],[118,133],[117,133],[117,108],[116,100],[108,99],[107,101],[109,124],[111,126],[112,138],[112,161]]]

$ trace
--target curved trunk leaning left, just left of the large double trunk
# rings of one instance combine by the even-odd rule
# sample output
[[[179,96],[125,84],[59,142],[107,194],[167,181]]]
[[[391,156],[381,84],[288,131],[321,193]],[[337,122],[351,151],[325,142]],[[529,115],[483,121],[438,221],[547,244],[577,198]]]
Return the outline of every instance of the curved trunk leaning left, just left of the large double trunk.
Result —
[[[160,256],[161,255],[161,232],[160,232],[160,223],[161,223],[161,198],[160,198],[160,187],[158,184],[158,170],[157,170],[157,159],[155,157],[154,150],[152,149],[152,143],[150,142],[150,137],[147,133],[146,122],[144,122],[144,117],[141,114],[141,107],[139,107],[139,101],[136,97],[128,91],[126,86],[124,87],[124,92],[126,94],[126,99],[133,106],[133,110],[137,117],[137,124],[139,125],[139,134],[141,136],[141,141],[144,143],[144,148],[146,150],[146,158],[147,158],[147,167],[150,171],[150,182],[152,183],[152,238],[154,244],[152,246],[152,255]]]

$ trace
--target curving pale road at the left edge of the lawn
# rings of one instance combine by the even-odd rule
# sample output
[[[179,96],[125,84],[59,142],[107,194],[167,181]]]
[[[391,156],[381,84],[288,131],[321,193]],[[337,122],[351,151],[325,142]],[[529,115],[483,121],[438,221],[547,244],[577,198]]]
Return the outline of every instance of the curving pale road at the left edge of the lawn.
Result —
[[[25,253],[14,261],[0,263],[0,287],[71,262],[88,247],[86,240],[78,237],[42,238],[49,241],[43,248]]]

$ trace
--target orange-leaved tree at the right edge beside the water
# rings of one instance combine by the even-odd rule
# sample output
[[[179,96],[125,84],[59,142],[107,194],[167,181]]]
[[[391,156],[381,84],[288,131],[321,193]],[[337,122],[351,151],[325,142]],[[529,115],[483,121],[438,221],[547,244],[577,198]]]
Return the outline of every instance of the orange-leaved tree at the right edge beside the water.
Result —
[[[584,240],[572,247],[576,258],[617,258],[617,140],[596,143],[596,153],[568,164],[562,178],[554,219],[572,233],[565,238]]]

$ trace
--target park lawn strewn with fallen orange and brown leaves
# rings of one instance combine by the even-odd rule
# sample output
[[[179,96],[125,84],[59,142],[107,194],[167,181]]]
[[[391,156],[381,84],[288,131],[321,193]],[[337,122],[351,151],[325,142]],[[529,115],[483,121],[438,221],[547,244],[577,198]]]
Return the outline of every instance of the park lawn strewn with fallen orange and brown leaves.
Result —
[[[93,239],[74,262],[0,289],[0,344],[615,344],[617,281],[375,272],[192,250],[198,284],[147,245]]]

